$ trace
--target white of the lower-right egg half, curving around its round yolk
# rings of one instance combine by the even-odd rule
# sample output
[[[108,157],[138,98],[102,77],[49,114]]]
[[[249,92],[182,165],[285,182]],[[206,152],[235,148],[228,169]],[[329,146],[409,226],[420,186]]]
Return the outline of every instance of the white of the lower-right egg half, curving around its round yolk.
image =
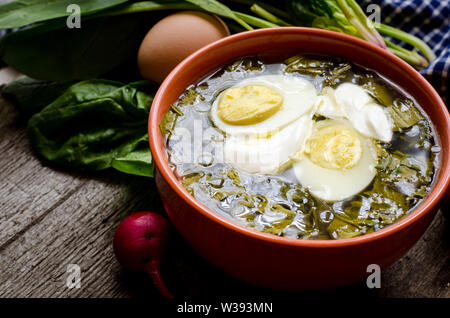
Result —
[[[325,120],[314,125],[341,125],[353,129],[351,123],[346,120]],[[355,133],[358,134],[356,131]],[[369,138],[358,135],[362,153],[354,167],[348,170],[327,169],[316,165],[307,155],[303,155],[302,159],[293,165],[299,183],[307,187],[313,196],[329,202],[349,198],[364,190],[377,173],[377,153]]]

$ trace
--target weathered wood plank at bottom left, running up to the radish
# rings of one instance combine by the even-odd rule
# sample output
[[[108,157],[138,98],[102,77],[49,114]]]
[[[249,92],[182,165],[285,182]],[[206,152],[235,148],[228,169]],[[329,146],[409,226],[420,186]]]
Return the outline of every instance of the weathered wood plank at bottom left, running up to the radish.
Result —
[[[120,289],[114,279],[118,271],[111,245],[114,228],[125,215],[154,205],[148,183],[102,176],[64,197],[0,251],[0,295],[106,297]],[[81,289],[65,286],[68,264],[83,270]]]

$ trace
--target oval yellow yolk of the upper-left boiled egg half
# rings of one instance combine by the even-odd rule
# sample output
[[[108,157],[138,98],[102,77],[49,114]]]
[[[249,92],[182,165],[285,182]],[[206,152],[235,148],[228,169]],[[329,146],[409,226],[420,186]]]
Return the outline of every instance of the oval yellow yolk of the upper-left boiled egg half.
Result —
[[[274,89],[248,85],[224,91],[217,110],[219,117],[227,124],[253,125],[274,115],[282,104],[282,96]]]

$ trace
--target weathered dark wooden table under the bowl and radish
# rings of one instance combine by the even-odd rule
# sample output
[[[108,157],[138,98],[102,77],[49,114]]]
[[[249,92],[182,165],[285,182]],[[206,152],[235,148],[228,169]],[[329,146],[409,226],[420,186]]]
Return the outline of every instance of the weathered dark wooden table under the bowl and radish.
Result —
[[[3,69],[0,83],[15,76]],[[45,166],[32,153],[25,127],[26,120],[14,106],[0,99],[0,297],[157,296],[145,275],[120,268],[111,244],[116,226],[130,213],[164,213],[153,180]],[[361,283],[318,294],[450,297],[449,215],[440,211],[409,253],[383,271],[381,289]],[[222,273],[175,230],[169,247],[163,275],[177,295],[283,294]],[[69,264],[82,270],[80,288],[66,285]]]

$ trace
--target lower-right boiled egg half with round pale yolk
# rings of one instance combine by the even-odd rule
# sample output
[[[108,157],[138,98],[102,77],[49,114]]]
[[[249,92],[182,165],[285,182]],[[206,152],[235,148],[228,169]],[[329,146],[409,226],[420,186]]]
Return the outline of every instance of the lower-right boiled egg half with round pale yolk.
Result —
[[[364,190],[376,175],[373,142],[348,120],[314,123],[295,175],[310,193],[325,201],[339,201]]]

